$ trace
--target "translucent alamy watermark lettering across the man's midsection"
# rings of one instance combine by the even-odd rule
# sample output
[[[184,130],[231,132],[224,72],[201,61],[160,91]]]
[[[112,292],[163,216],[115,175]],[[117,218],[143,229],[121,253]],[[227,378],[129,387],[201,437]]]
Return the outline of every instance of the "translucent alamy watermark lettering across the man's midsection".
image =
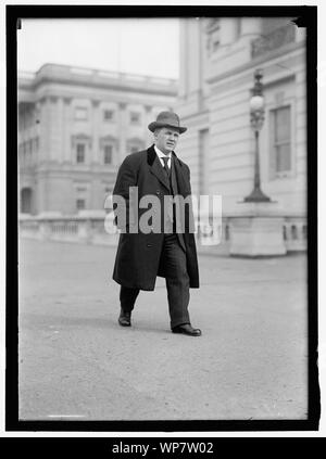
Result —
[[[108,196],[104,229],[108,234],[122,233],[196,233],[202,245],[218,245],[222,241],[222,196],[220,194],[164,195],[139,199],[138,187],[130,187],[127,197]]]

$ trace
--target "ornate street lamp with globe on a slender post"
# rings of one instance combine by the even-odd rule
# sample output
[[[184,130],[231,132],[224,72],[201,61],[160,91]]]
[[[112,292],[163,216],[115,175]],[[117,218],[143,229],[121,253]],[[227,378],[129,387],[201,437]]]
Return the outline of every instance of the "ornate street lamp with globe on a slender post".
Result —
[[[260,150],[259,137],[260,130],[264,123],[264,97],[263,97],[263,78],[262,69],[258,68],[254,72],[254,86],[252,88],[252,97],[250,99],[250,124],[254,131],[255,149],[254,149],[254,182],[252,192],[244,197],[244,202],[267,202],[271,201],[261,190],[260,177]]]

